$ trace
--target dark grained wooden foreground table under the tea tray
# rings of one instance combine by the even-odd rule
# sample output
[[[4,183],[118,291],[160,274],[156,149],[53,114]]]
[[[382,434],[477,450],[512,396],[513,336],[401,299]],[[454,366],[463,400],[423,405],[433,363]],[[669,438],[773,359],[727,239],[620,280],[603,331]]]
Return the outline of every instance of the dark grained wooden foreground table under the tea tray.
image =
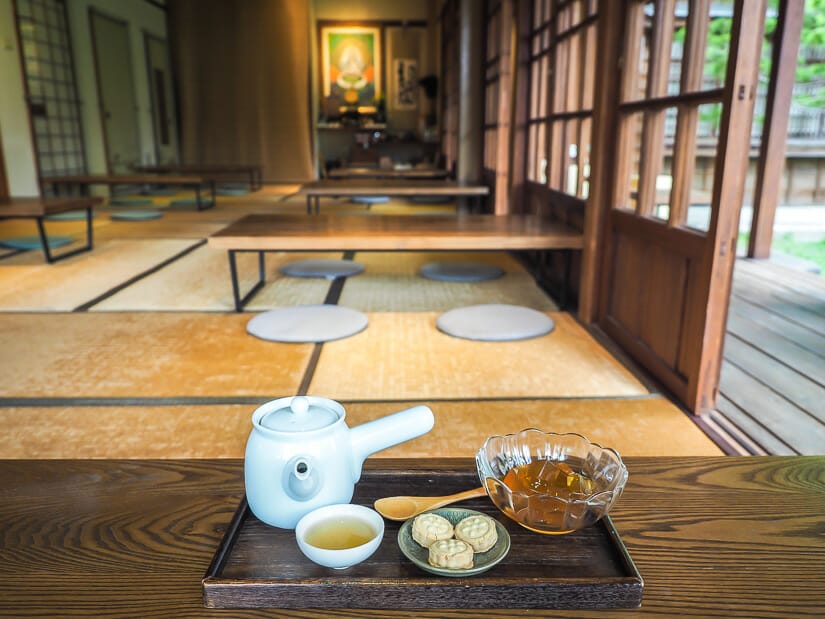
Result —
[[[645,579],[641,608],[597,614],[343,609],[336,616],[822,617],[825,457],[626,461],[630,480],[612,517]],[[473,466],[471,460],[366,463],[397,469],[401,477]],[[201,579],[243,495],[239,460],[6,460],[0,487],[0,616],[331,614],[203,608]]]

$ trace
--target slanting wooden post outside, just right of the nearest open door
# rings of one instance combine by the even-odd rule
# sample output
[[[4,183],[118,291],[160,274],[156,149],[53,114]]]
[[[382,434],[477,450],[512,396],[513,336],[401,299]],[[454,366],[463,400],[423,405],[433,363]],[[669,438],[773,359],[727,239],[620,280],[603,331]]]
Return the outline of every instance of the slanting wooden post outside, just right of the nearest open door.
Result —
[[[753,192],[753,218],[748,243],[750,258],[768,258],[771,255],[773,221],[785,168],[788,113],[791,109],[799,34],[804,13],[805,0],[784,0],[779,3],[768,99],[765,104],[765,123],[762,126],[762,143],[759,148],[756,187]]]

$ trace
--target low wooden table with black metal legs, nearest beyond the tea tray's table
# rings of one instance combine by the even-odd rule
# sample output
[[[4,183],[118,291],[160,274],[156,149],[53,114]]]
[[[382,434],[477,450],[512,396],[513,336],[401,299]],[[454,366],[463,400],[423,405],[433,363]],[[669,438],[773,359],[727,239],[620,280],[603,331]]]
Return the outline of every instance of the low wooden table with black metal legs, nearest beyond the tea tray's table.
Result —
[[[582,233],[535,215],[247,215],[209,237],[229,253],[235,311],[264,285],[268,251],[521,251],[582,249]],[[235,256],[258,253],[258,281],[243,297]]]

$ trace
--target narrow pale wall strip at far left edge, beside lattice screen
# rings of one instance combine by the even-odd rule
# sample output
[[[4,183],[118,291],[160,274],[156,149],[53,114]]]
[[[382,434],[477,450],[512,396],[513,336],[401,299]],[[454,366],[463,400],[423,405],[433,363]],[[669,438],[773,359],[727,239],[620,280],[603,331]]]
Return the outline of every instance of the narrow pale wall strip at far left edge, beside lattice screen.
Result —
[[[0,134],[9,193],[37,196],[37,168],[12,0],[0,0]]]

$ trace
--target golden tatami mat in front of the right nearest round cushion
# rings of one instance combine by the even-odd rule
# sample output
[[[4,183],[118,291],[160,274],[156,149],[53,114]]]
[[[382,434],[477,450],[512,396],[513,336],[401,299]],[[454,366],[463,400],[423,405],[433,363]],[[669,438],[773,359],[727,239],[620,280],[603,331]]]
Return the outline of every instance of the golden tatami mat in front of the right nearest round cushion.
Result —
[[[437,313],[373,313],[361,333],[324,344],[310,393],[335,399],[626,396],[642,384],[570,315],[518,342],[474,342],[435,327]]]

